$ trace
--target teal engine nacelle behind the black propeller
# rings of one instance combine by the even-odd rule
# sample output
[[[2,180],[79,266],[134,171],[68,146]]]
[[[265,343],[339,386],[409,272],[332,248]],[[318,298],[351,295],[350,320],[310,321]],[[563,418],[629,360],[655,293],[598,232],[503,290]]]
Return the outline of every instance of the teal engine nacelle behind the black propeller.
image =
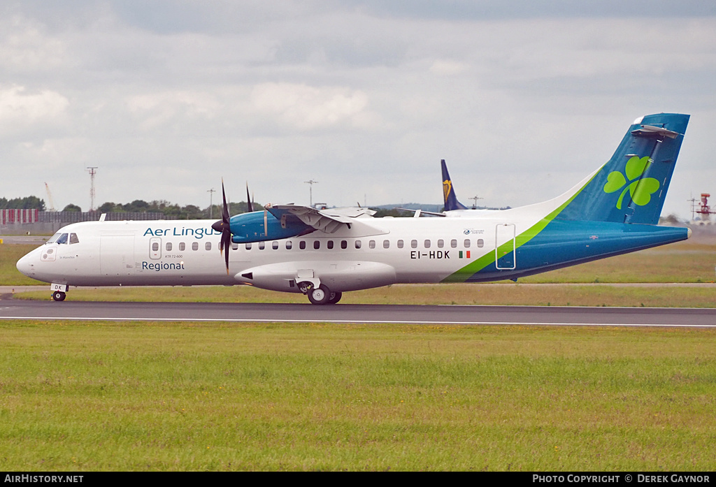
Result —
[[[306,235],[315,230],[296,217],[285,215],[279,220],[266,211],[234,215],[229,222],[231,241],[234,243],[281,240]]]

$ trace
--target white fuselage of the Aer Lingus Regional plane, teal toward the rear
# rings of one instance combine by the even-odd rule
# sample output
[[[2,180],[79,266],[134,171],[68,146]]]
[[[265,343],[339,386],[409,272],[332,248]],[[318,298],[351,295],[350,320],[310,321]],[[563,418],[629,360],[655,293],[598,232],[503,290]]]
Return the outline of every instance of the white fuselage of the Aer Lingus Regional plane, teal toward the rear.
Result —
[[[510,210],[493,213],[369,218],[366,232],[353,227],[233,243],[228,272],[210,220],[83,222],[58,232],[77,242],[47,243],[17,266],[37,280],[73,286],[248,284],[299,292],[296,282],[306,277],[344,292],[397,282],[516,279],[688,236],[674,227],[552,221],[521,242],[536,222],[511,218]]]

